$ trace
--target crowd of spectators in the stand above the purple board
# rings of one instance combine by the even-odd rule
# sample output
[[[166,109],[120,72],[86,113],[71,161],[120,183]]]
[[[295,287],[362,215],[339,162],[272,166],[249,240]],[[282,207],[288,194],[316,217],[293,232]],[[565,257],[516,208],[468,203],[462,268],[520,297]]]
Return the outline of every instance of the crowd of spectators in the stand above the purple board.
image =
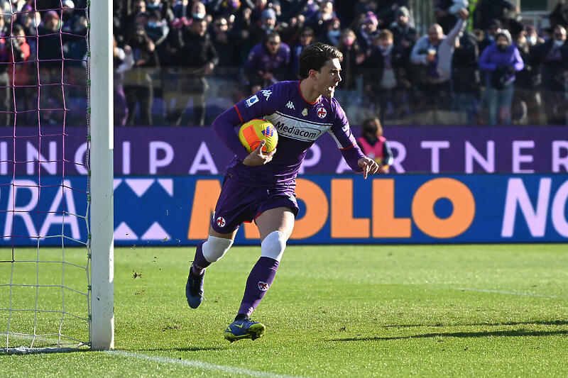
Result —
[[[0,0],[0,125],[11,125],[12,96],[22,122],[38,101],[52,123],[63,101],[81,104],[87,1],[36,3]],[[352,123],[568,124],[564,0],[542,29],[506,0],[436,0],[424,35],[408,3],[114,1],[115,123],[207,125],[227,104],[296,79],[300,52],[321,41],[344,54],[336,96]],[[48,85],[61,81],[77,86]]]

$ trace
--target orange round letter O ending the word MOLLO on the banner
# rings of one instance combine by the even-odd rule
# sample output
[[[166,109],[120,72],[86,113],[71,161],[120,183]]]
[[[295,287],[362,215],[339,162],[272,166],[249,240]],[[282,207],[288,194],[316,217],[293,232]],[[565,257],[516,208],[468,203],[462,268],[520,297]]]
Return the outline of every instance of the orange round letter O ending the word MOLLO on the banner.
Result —
[[[438,218],[434,204],[439,199],[452,201],[454,211],[448,218]],[[456,179],[433,179],[418,188],[413,199],[416,226],[432,238],[455,238],[471,226],[475,216],[474,195]]]

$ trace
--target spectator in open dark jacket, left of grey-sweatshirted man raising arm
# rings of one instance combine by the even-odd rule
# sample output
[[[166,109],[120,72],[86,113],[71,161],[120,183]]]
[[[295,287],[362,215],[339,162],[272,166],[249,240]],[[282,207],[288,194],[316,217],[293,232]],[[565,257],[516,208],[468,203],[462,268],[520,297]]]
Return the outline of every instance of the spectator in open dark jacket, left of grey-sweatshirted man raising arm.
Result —
[[[403,114],[406,91],[410,82],[406,79],[408,55],[400,46],[393,45],[393,33],[382,30],[372,35],[373,48],[365,60],[365,92],[369,103],[380,107],[379,120],[384,121],[389,106],[395,118]]]

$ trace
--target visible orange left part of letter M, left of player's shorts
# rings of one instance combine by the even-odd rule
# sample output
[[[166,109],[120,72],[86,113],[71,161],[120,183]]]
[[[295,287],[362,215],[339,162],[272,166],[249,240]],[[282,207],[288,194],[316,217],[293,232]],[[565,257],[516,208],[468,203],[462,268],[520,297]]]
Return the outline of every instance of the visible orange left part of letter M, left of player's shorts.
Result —
[[[215,204],[221,194],[219,180],[197,180],[190,215],[190,228],[187,230],[188,239],[207,239],[209,221],[215,211]]]

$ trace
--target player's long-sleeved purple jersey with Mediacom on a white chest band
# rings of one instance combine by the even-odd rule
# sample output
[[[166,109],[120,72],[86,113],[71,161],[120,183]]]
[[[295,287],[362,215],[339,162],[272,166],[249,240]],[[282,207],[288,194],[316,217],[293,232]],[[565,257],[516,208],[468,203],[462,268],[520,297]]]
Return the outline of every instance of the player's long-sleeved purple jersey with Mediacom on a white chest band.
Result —
[[[248,152],[234,130],[230,134],[226,128],[234,128],[254,118],[273,123],[278,131],[278,146],[271,162],[249,167],[242,164]],[[324,133],[332,135],[352,169],[362,170],[356,162],[364,155],[351,133],[342,107],[336,99],[325,96],[320,96],[314,103],[307,102],[300,92],[300,82],[278,82],[258,91],[225,111],[212,127],[236,154],[227,166],[226,174],[249,186],[294,187],[307,150]]]

